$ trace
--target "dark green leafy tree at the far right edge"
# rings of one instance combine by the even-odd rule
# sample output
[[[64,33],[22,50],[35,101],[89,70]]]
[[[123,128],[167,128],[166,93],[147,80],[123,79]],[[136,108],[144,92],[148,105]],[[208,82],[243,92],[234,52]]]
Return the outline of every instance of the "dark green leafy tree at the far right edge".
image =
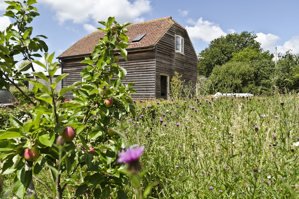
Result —
[[[281,91],[299,91],[299,54],[292,54],[287,51],[278,55],[277,68],[275,73],[275,85]]]

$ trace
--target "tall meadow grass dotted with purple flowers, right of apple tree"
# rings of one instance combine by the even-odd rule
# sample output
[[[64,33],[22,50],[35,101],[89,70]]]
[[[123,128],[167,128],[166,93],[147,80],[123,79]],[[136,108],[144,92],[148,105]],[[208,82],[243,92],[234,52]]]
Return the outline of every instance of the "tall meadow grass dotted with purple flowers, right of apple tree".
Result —
[[[137,102],[141,183],[151,198],[298,198],[298,107],[295,94]]]

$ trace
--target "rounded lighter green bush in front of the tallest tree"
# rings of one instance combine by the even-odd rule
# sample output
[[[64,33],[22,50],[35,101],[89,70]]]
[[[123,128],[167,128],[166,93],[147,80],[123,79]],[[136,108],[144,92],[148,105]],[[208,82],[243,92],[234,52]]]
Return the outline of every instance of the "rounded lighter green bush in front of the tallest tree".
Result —
[[[228,62],[215,66],[209,77],[210,92],[243,92],[252,84],[253,68],[246,62]]]

